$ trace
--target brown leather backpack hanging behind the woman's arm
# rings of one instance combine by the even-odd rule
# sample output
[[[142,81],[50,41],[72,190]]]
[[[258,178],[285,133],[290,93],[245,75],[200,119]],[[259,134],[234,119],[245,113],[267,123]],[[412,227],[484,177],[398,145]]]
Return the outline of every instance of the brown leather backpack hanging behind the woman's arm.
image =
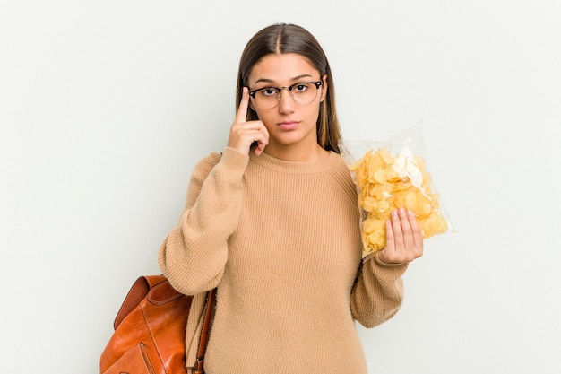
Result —
[[[203,373],[215,290],[209,291],[194,373]],[[186,323],[192,296],[163,275],[141,276],[117,313],[115,333],[101,353],[101,374],[181,374],[186,370]]]

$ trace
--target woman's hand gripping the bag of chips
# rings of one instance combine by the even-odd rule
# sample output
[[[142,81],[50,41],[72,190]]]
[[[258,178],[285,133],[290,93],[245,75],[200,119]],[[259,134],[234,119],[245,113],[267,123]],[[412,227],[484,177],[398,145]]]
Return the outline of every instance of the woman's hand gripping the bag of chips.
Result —
[[[403,264],[423,256],[423,234],[415,214],[401,208],[385,222],[385,248],[378,258],[386,264]]]

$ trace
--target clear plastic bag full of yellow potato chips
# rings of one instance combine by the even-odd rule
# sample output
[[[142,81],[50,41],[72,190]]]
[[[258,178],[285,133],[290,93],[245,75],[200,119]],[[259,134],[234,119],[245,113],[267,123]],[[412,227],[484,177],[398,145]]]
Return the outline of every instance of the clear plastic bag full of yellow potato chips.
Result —
[[[427,171],[422,121],[387,142],[342,140],[341,156],[358,189],[362,257],[384,249],[393,210],[415,213],[424,238],[452,233]]]

